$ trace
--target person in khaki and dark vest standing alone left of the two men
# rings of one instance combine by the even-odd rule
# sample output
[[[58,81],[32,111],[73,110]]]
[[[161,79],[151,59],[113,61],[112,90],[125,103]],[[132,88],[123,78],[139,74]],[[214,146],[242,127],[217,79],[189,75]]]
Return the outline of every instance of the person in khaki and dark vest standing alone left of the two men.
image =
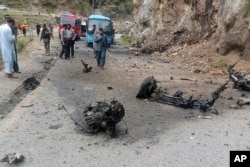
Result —
[[[44,48],[45,48],[47,56],[50,55],[50,39],[51,39],[51,37],[54,38],[52,33],[46,27],[46,24],[43,24],[43,29],[42,29],[40,41],[43,40]]]

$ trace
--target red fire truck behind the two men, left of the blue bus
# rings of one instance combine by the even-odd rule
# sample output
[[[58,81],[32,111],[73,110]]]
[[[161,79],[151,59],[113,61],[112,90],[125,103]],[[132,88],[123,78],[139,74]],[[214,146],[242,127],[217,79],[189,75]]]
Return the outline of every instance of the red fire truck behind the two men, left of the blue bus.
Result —
[[[81,19],[78,18],[75,14],[71,13],[63,13],[60,15],[59,18],[59,37],[60,37],[60,30],[62,29],[64,24],[71,24],[75,34],[76,40],[80,39],[81,36]]]

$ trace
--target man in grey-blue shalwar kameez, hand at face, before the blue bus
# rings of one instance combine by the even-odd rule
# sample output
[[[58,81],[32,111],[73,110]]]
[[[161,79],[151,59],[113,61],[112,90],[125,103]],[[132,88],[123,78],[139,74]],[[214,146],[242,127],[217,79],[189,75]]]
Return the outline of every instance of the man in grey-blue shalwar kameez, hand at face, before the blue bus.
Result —
[[[96,53],[97,66],[100,67],[101,69],[104,69],[108,42],[107,42],[107,37],[104,34],[103,28],[99,28],[99,32],[95,34],[94,43],[95,43],[94,50]]]

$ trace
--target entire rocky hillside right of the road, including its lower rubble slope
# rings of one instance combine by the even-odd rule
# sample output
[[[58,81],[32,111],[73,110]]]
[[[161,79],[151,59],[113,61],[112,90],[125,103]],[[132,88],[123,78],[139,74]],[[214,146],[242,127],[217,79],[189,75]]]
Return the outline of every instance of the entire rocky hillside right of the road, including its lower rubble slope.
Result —
[[[133,2],[136,24],[130,34],[141,44],[143,53],[166,59],[181,55],[179,61],[192,66],[194,60],[199,59],[197,56],[214,58],[232,53],[244,56],[250,52],[250,0]],[[188,55],[196,57],[193,59]],[[199,61],[204,62],[204,58]],[[205,67],[205,64],[197,65]],[[210,67],[206,69],[209,70]]]

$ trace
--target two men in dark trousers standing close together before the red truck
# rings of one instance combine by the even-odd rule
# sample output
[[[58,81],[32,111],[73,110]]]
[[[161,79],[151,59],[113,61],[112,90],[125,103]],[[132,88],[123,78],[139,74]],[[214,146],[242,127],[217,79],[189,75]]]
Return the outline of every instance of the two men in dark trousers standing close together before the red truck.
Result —
[[[70,55],[74,58],[74,44],[76,40],[76,34],[71,27],[71,24],[64,24],[63,28],[60,30],[60,41],[62,45],[62,51],[60,53],[60,58],[70,59]]]

